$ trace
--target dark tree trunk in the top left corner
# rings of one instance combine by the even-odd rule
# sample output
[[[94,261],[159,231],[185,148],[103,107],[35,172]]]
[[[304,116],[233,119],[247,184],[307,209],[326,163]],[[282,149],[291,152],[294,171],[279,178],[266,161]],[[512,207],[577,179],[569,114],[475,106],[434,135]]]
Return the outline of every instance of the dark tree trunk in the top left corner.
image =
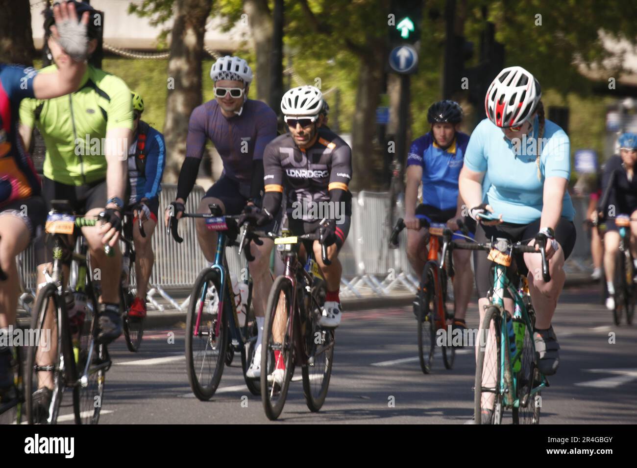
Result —
[[[27,0],[0,0],[0,62],[33,66],[36,50]]]

